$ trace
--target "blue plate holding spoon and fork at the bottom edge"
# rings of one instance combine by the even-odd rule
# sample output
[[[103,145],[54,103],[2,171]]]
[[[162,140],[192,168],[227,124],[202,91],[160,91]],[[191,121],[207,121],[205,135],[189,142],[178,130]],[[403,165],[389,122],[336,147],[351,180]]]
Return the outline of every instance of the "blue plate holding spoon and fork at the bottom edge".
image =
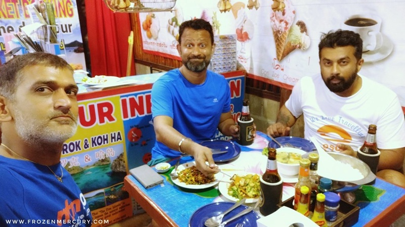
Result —
[[[235,203],[231,202],[216,202],[210,203],[205,206],[201,206],[196,210],[193,215],[191,215],[190,221],[188,222],[189,227],[205,227],[206,225],[204,222],[212,216],[219,215],[223,211],[230,208]],[[222,220],[226,220],[228,218],[233,217],[234,215],[238,214],[240,211],[248,209],[247,206],[241,205],[236,207],[231,212],[227,213]],[[256,220],[259,219],[260,216],[254,210],[245,214],[239,218],[236,218],[226,224],[226,227],[234,227],[237,223],[244,223],[244,227],[257,227]]]

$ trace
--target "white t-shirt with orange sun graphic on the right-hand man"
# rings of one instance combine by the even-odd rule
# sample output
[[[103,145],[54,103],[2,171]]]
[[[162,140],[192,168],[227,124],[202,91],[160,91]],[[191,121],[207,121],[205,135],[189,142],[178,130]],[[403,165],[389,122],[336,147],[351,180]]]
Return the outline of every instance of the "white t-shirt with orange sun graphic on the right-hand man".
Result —
[[[366,139],[369,125],[377,125],[377,146],[405,147],[405,121],[396,94],[361,76],[360,90],[350,97],[331,92],[321,75],[303,77],[293,88],[286,107],[295,117],[304,114],[304,135],[315,137],[326,151],[338,151],[337,143],[354,150]]]

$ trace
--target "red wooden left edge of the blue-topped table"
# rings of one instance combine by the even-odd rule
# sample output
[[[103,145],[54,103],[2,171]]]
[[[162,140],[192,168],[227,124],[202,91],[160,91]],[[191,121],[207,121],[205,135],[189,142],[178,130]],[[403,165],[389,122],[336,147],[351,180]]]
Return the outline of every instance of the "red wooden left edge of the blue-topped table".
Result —
[[[137,203],[146,211],[147,214],[158,224],[158,226],[173,226],[178,227],[175,221],[170,218],[159,206],[157,206],[153,200],[142,192],[142,190],[136,190],[139,188],[136,184],[129,179],[129,176],[124,178],[125,190],[135,199]]]

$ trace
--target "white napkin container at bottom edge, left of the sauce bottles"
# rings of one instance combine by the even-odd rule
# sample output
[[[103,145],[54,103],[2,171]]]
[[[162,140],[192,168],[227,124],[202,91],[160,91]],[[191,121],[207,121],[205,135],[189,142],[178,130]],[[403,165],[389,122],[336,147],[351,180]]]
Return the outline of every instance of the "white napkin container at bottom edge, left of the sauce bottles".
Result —
[[[305,226],[305,227],[319,227],[308,217],[291,209],[287,206],[281,206],[274,213],[265,217],[257,219],[258,227],[289,227],[289,226]],[[296,224],[296,225],[293,225]]]

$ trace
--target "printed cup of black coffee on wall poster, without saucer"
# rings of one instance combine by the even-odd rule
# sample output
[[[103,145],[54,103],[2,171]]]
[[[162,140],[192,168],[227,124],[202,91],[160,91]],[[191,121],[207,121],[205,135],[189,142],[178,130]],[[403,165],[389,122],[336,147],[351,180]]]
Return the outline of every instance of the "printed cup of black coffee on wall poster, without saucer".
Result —
[[[363,52],[378,50],[383,44],[381,18],[373,14],[358,14],[347,17],[342,29],[358,33],[363,40]]]

